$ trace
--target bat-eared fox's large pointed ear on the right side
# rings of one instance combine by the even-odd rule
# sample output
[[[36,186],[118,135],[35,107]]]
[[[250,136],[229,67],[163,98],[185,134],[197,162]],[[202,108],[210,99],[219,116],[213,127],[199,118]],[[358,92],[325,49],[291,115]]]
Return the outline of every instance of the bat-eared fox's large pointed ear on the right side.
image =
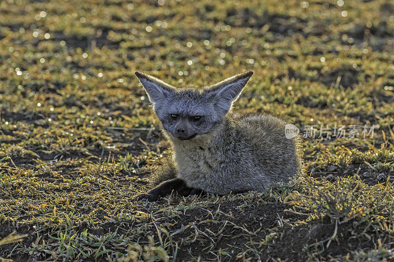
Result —
[[[218,98],[219,107],[227,112],[230,110],[232,103],[239,97],[252,75],[253,71],[234,75],[210,86],[206,92],[214,94]]]

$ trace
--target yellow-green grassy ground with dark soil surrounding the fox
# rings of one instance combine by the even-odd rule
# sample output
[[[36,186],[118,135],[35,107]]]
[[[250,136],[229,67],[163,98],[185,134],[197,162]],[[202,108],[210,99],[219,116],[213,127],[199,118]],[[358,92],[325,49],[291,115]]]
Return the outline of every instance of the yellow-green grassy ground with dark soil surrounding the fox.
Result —
[[[0,261],[393,260],[393,38],[390,0],[1,1]],[[136,202],[169,154],[136,69],[254,70],[234,111],[374,134],[305,137],[265,193]]]

